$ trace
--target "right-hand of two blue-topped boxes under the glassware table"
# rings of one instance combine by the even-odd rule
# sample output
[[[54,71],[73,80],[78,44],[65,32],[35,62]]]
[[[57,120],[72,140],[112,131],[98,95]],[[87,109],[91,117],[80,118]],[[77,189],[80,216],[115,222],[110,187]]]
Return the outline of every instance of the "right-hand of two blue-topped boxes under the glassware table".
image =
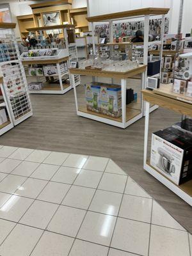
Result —
[[[122,115],[122,93],[119,85],[100,86],[100,111],[113,117]]]

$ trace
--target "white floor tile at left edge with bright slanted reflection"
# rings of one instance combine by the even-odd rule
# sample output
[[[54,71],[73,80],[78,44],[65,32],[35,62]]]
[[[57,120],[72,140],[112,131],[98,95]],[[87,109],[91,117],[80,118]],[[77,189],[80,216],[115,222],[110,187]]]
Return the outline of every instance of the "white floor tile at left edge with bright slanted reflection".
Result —
[[[33,203],[33,199],[12,195],[0,208],[0,218],[18,222]]]

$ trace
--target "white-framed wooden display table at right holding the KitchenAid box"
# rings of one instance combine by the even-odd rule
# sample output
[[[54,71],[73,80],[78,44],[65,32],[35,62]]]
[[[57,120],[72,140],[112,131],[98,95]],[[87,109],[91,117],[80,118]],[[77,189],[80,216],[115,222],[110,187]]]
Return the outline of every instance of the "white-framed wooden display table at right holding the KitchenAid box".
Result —
[[[147,158],[148,149],[148,124],[149,124],[149,106],[157,104],[165,109],[170,109],[181,115],[192,116],[192,102],[189,102],[189,97],[180,97],[177,93],[172,93],[172,85],[161,86],[160,89],[150,91],[142,90],[143,100],[146,101],[145,108],[145,141],[144,141],[144,163],[143,168],[157,180],[171,189],[175,194],[180,196],[189,205],[192,205],[192,180],[177,186],[172,180],[161,174],[158,170],[150,165],[150,160]]]

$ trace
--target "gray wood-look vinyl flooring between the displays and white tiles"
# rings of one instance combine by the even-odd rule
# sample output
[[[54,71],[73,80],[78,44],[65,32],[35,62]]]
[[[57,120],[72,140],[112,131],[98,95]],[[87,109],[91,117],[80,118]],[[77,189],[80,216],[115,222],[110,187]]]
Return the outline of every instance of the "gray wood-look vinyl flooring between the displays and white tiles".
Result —
[[[83,99],[83,86],[77,91]],[[3,134],[1,145],[110,157],[192,233],[191,207],[143,170],[145,118],[120,129],[77,116],[73,90],[65,95],[31,95],[31,102],[33,116]],[[179,115],[159,108],[150,114],[150,132],[178,120]]]

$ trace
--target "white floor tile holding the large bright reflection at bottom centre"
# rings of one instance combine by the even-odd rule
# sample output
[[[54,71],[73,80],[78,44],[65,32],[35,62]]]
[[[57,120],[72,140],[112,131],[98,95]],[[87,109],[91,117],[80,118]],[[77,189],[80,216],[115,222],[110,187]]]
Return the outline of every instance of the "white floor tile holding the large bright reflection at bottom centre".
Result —
[[[116,217],[88,212],[77,234],[77,238],[109,246]]]

